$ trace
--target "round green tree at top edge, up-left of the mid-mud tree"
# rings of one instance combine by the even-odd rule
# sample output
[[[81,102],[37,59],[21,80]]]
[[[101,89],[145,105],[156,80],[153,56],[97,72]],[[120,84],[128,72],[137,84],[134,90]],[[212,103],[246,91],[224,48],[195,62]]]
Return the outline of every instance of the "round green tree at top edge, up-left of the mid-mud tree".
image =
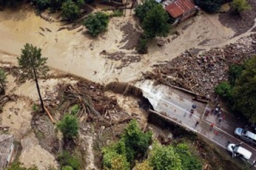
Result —
[[[79,6],[77,6],[73,1],[68,0],[64,2],[61,6],[61,15],[63,19],[68,21],[74,21],[81,16]]]

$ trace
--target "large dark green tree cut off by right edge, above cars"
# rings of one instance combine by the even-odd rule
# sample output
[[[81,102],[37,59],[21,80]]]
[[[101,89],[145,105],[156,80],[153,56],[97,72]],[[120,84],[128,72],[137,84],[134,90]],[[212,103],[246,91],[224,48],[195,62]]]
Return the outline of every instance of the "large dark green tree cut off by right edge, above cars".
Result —
[[[234,87],[235,109],[256,122],[256,56],[246,61]]]

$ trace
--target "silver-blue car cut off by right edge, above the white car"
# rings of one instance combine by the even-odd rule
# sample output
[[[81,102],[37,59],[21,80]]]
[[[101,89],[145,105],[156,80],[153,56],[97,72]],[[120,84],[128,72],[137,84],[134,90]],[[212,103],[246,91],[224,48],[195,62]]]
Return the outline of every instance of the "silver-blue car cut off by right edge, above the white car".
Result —
[[[234,133],[235,136],[240,137],[242,140],[250,142],[252,145],[256,145],[256,134],[252,133],[251,131],[237,127]]]

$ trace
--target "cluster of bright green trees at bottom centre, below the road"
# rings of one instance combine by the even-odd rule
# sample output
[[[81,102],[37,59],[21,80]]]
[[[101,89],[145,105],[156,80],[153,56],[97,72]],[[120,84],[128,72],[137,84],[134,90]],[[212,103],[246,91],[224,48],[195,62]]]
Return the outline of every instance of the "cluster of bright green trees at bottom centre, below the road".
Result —
[[[133,120],[125,129],[121,139],[103,148],[103,169],[129,170],[199,170],[202,167],[197,157],[192,155],[185,143],[177,146],[163,146],[158,142],[151,145],[152,133],[143,133]],[[136,162],[140,158],[142,163]]]

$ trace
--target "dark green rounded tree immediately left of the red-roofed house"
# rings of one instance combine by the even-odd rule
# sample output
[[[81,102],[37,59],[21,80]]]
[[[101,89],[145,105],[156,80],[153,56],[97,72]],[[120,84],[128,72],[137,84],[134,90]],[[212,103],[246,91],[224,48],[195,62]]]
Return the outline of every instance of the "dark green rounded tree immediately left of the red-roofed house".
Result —
[[[167,36],[170,30],[168,25],[168,14],[162,8],[162,5],[155,5],[146,12],[146,17],[142,22],[142,28],[146,37]]]

